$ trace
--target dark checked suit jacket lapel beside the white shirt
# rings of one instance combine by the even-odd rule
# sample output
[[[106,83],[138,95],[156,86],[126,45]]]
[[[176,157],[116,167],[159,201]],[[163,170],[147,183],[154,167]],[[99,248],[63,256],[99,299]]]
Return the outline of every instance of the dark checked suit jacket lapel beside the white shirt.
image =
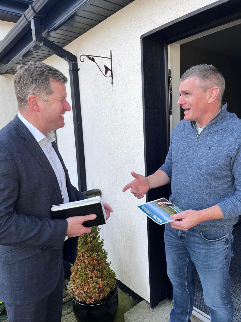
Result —
[[[62,194],[61,194],[61,191],[60,191],[60,188],[59,188],[58,180],[57,180],[57,177],[55,175],[55,172],[54,172],[51,164],[49,163],[48,158],[44,154],[44,152],[41,149],[41,147],[39,146],[38,142],[32,136],[31,132],[22,123],[22,121],[20,120],[20,118],[17,115],[13,119],[12,123],[15,126],[15,128],[17,128],[20,136],[26,139],[25,142],[24,142],[24,144],[30,150],[30,152],[32,153],[32,155],[39,162],[40,166],[42,166],[42,168],[44,169],[44,171],[49,176],[50,180],[52,181],[52,183],[54,185],[55,191],[56,191],[56,193],[58,195],[60,204],[62,204],[63,203],[63,198],[62,198]]]

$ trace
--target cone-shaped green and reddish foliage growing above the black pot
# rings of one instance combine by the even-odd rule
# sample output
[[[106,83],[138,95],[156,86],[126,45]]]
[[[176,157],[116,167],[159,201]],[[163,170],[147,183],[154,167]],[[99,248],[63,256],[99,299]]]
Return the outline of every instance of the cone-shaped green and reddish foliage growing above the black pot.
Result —
[[[100,228],[92,227],[88,234],[79,237],[76,262],[71,265],[69,293],[80,302],[99,302],[115,286],[115,273],[107,262],[104,240]]]

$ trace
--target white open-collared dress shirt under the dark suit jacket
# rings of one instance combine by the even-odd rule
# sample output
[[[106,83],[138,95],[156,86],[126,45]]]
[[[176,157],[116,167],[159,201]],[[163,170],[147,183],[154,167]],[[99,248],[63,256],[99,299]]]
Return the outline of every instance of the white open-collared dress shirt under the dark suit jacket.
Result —
[[[35,126],[33,126],[29,121],[27,121],[26,118],[24,118],[20,113],[18,113],[18,117],[20,118],[22,123],[29,129],[32,136],[39,143],[41,149],[43,150],[44,154],[49,160],[49,163],[51,164],[55,172],[55,175],[57,177],[64,204],[68,203],[69,196],[67,192],[66,176],[65,176],[64,168],[58,158],[57,153],[52,147],[52,142],[55,140],[53,131],[48,132],[45,136],[42,132],[40,132],[40,130],[35,128]],[[68,237],[66,236],[65,240],[67,239]]]

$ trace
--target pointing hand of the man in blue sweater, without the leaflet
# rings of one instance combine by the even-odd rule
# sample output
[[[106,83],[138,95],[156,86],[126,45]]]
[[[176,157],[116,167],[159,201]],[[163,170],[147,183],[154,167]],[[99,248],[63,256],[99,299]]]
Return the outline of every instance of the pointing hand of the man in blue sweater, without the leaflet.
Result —
[[[130,192],[134,194],[138,199],[143,198],[147,191],[150,189],[150,185],[147,177],[144,175],[138,175],[135,172],[131,172],[131,175],[135,178],[128,185],[125,185],[122,189],[125,192],[127,189],[130,189]]]

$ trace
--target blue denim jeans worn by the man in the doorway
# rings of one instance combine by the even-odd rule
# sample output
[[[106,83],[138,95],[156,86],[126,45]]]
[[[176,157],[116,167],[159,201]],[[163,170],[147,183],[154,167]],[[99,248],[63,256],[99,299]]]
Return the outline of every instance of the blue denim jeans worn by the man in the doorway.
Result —
[[[189,322],[194,302],[193,270],[201,280],[204,302],[210,307],[212,322],[232,322],[233,301],[230,294],[229,265],[232,230],[188,231],[165,226],[167,274],[173,285],[174,308],[171,322]]]

